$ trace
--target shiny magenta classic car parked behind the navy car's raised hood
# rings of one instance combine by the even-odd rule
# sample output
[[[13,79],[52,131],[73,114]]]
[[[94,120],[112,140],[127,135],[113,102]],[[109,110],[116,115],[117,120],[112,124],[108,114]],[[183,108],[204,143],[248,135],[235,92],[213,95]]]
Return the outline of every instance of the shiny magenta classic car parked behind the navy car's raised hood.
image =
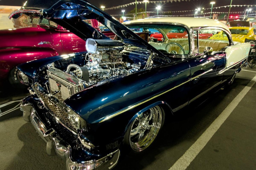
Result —
[[[15,28],[0,30],[0,87],[6,82],[20,86],[18,64],[86,51],[83,39],[53,21],[36,16],[33,11],[18,18],[9,17],[13,18]],[[98,29],[98,21],[86,22]],[[112,34],[106,32],[107,36]]]

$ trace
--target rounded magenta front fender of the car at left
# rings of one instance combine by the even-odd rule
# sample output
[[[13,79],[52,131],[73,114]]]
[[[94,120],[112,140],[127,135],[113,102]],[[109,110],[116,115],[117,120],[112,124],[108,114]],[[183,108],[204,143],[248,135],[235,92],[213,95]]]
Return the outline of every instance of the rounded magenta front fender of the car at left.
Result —
[[[40,47],[10,47],[0,49],[0,78],[7,78],[18,64],[58,55],[57,51]]]

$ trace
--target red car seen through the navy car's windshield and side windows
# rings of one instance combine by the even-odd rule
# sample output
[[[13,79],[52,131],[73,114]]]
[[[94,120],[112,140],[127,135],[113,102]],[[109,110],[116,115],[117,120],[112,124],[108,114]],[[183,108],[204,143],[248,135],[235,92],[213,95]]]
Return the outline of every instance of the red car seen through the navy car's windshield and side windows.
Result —
[[[186,31],[186,29],[180,29],[180,28],[179,29],[172,29],[171,31],[166,33],[166,36],[168,37],[168,39],[186,38],[186,37],[188,37],[188,32]],[[208,39],[208,38],[212,37],[212,34],[203,33],[202,31],[200,31],[199,36],[200,36],[200,39]],[[151,39],[156,39],[157,41],[163,41],[162,33],[152,34],[152,35],[150,35],[150,38]]]

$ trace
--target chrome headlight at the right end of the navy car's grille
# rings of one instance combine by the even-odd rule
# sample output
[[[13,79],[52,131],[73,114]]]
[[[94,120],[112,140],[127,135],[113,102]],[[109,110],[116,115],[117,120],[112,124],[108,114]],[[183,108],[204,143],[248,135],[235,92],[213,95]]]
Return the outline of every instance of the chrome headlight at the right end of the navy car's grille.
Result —
[[[84,121],[84,119],[82,119],[75,111],[73,111],[68,107],[67,112],[68,112],[68,119],[70,120],[70,122],[72,123],[72,126],[75,129],[86,127],[86,121]]]

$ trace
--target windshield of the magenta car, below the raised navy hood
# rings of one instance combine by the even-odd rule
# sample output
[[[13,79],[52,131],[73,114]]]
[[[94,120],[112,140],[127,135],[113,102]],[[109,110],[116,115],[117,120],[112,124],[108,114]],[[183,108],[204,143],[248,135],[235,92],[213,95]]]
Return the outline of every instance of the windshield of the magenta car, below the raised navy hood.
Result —
[[[15,28],[37,27],[37,25],[48,25],[52,27],[57,27],[57,24],[53,21],[32,14],[22,14],[18,18],[12,18],[12,22]]]

